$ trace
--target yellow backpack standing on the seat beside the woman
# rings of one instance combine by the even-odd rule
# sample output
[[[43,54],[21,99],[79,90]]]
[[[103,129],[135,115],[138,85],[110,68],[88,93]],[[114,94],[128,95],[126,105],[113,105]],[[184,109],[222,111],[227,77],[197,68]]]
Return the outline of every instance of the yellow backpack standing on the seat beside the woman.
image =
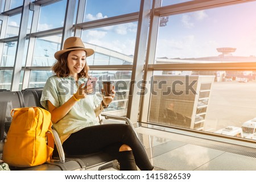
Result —
[[[2,160],[17,167],[49,162],[54,147],[51,113],[40,107],[22,107],[11,110],[11,116]]]

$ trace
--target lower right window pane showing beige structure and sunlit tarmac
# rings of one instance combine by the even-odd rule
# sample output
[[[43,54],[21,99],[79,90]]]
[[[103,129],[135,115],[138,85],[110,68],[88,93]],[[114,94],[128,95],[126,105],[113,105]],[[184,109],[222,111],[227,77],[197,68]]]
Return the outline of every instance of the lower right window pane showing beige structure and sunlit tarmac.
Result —
[[[255,78],[255,71],[155,72],[148,122],[251,137]]]

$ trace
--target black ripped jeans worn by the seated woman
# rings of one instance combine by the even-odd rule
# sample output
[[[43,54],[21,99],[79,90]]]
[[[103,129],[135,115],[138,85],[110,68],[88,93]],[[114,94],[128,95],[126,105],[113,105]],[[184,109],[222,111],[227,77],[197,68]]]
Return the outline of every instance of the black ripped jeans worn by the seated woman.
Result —
[[[71,134],[63,143],[65,153],[68,155],[90,154],[92,152],[106,151],[117,156],[122,144],[127,144],[133,150],[135,163],[139,169],[152,170],[152,165],[137,135],[129,125],[106,124],[85,127]]]

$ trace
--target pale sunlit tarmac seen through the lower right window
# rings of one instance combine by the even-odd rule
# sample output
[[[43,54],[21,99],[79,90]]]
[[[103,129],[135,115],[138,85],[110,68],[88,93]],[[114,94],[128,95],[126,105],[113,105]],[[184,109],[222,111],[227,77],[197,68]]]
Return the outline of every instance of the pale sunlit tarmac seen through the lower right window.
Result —
[[[256,81],[214,82],[205,118],[204,131],[226,126],[241,127],[256,117]]]

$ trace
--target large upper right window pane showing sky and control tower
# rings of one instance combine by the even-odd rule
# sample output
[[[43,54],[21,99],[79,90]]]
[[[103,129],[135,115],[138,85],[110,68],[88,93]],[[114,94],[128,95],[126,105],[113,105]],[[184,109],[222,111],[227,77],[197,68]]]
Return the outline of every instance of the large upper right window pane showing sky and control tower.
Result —
[[[162,16],[155,63],[255,62],[255,6],[254,1]]]

